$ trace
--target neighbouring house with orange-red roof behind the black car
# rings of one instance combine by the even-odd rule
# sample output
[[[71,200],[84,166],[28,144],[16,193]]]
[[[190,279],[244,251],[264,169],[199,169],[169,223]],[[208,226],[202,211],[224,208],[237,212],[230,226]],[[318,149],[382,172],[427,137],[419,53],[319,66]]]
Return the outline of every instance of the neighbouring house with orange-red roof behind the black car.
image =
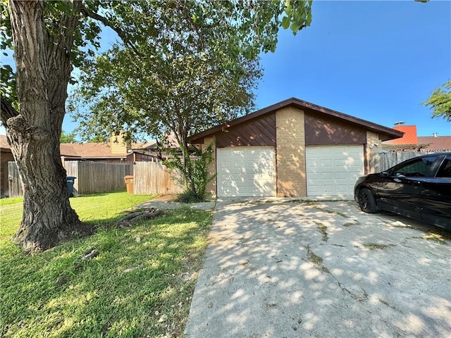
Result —
[[[404,125],[397,122],[393,127],[395,130],[404,132],[399,139],[383,142],[378,150],[385,151],[451,151],[451,136],[417,136],[416,125]]]

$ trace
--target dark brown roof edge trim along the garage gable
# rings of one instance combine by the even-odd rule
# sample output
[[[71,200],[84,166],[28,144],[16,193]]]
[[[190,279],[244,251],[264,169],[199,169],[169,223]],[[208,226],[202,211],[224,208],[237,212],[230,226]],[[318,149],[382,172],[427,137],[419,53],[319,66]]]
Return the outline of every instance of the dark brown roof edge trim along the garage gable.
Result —
[[[389,127],[384,127],[383,125],[378,125],[376,123],[372,123],[367,120],[362,120],[361,118],[355,118],[354,116],[347,115],[345,113],[340,113],[339,111],[333,111],[331,109],[318,106],[316,104],[311,104],[310,102],[302,101],[296,99],[295,97],[292,97],[291,99],[280,101],[277,104],[273,104],[272,106],[260,109],[259,111],[254,111],[254,113],[242,116],[241,118],[235,118],[235,120],[231,120],[228,123],[224,123],[223,125],[217,125],[216,127],[212,127],[209,130],[205,130],[204,132],[194,134],[188,137],[187,140],[191,144],[203,143],[204,137],[207,137],[211,134],[215,134],[216,132],[220,132],[221,130],[226,130],[227,128],[233,127],[235,125],[239,125],[240,123],[245,123],[248,120],[252,120],[253,118],[258,118],[259,116],[264,115],[266,113],[278,111],[282,108],[286,108],[289,106],[294,106],[302,110],[307,109],[310,111],[316,111],[319,113],[323,113],[324,115],[340,118],[341,120],[346,120],[347,122],[362,126],[367,130],[371,130],[371,132],[378,133],[382,141],[386,141],[388,139],[397,139],[402,137],[402,135],[404,134],[404,132],[400,132],[398,130],[394,130]]]

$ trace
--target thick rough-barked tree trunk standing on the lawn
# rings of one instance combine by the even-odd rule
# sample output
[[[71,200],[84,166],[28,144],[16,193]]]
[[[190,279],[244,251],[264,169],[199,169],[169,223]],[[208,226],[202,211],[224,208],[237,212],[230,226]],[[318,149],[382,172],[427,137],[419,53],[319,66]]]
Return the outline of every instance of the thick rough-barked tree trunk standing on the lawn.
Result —
[[[70,50],[78,25],[63,14],[51,33],[43,1],[9,1],[17,68],[19,113],[6,120],[11,151],[23,183],[23,219],[15,238],[26,251],[42,251],[74,234],[92,233],[70,207],[59,137],[70,76]]]

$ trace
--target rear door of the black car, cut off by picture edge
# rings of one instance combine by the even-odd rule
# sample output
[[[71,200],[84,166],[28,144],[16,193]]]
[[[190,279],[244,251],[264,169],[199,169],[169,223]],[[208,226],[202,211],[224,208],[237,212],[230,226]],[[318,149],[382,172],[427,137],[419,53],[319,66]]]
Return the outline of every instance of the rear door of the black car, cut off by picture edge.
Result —
[[[423,183],[421,219],[451,230],[451,155],[440,158],[435,177]]]

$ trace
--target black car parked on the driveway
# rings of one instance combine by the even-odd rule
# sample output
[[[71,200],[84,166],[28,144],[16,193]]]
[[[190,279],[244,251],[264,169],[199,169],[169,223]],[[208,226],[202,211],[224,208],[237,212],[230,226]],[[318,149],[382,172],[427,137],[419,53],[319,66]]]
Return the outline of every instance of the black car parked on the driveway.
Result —
[[[418,156],[359,177],[354,199],[365,213],[386,210],[451,230],[451,153]]]

